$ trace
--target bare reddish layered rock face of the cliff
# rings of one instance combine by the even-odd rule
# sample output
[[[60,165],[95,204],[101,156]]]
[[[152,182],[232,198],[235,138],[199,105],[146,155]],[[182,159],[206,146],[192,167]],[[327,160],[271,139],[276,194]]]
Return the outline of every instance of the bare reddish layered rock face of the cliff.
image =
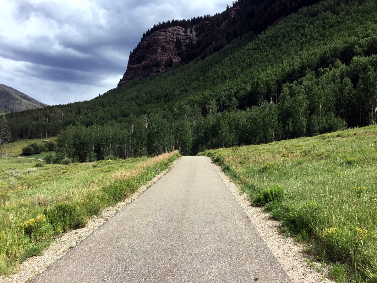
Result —
[[[184,29],[182,26],[173,26],[145,37],[139,43],[136,53],[130,55],[127,71],[118,87],[138,77],[162,74],[181,63],[182,51],[197,42],[196,34],[193,27]]]

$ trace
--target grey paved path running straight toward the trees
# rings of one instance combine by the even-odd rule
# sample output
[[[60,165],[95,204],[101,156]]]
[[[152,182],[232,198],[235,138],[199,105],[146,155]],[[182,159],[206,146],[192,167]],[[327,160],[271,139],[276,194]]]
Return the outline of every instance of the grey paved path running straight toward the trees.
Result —
[[[183,157],[37,282],[290,282],[207,157]]]

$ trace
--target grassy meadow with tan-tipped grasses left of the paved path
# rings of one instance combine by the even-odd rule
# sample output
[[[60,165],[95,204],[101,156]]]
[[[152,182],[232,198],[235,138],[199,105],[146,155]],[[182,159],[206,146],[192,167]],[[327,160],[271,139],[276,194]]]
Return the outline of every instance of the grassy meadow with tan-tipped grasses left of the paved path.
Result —
[[[0,159],[0,275],[40,254],[64,231],[85,226],[104,207],[152,179],[156,168],[162,171],[178,157],[175,151],[70,165]]]

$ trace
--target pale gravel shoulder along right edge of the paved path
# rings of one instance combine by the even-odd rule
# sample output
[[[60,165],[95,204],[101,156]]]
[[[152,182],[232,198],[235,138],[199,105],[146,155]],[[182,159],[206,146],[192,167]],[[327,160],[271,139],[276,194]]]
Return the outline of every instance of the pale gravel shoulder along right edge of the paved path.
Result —
[[[283,266],[293,283],[333,283],[333,281],[325,278],[324,274],[327,271],[319,262],[314,260],[314,265],[322,269],[323,274],[307,264],[310,258],[301,252],[302,246],[294,238],[286,237],[282,233],[279,221],[271,220],[262,208],[251,206],[247,195],[239,193],[239,188],[222,172],[219,166],[215,164],[213,166],[215,166],[220,177],[244,209],[259,235],[261,235],[261,238],[270,248],[277,261]]]

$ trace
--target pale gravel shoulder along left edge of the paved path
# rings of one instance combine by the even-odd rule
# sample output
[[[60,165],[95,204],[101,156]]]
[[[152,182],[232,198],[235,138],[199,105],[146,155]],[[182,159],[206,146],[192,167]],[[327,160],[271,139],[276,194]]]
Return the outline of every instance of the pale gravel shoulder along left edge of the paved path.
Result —
[[[121,211],[125,206],[130,204],[133,200],[139,197],[143,192],[145,192],[150,186],[152,186],[156,181],[158,181],[162,176],[164,176],[174,165],[178,162],[178,158],[172,165],[167,169],[162,171],[160,174],[156,175],[152,180],[150,180],[146,185],[141,186],[135,193],[130,195],[126,200],[117,203],[114,206],[105,208],[101,214],[91,218],[88,224],[81,229],[76,229],[63,234],[61,237],[55,239],[53,243],[43,252],[43,255],[37,257],[31,257],[21,263],[16,273],[11,274],[9,277],[0,277],[1,283],[18,283],[18,282],[28,282],[32,278],[39,275],[41,272],[46,270],[55,261],[66,254],[70,249],[74,248],[78,243],[89,236],[93,231],[103,225],[109,218],[113,217],[116,213]]]

